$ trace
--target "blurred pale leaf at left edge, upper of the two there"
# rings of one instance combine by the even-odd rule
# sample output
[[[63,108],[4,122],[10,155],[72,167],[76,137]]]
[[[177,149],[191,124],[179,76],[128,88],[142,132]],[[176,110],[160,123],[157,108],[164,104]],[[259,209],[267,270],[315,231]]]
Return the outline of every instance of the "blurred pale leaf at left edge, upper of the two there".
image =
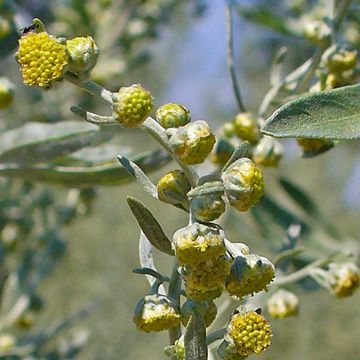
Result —
[[[44,163],[88,146],[99,128],[79,121],[31,122],[0,135],[0,163]]]

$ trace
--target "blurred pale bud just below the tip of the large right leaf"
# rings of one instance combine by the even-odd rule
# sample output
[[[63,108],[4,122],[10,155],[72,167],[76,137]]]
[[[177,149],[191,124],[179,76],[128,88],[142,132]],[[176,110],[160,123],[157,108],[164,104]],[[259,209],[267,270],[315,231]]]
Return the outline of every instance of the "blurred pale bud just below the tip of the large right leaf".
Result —
[[[253,152],[255,164],[265,167],[277,167],[284,155],[281,143],[269,136],[264,136],[256,145]]]

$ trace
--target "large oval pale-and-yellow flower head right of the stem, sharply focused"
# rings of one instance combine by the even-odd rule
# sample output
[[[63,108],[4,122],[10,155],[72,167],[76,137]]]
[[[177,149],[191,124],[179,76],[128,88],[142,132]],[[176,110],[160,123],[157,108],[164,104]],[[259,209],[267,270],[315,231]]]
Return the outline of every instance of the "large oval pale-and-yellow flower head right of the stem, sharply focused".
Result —
[[[231,164],[221,175],[226,197],[238,211],[247,211],[264,193],[261,169],[250,159],[242,158]]]

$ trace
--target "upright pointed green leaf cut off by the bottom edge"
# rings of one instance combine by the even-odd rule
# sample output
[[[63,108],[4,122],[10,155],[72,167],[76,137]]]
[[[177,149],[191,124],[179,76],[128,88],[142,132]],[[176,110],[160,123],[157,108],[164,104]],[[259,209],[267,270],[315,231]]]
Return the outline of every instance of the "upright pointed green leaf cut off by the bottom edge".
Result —
[[[207,360],[206,329],[202,316],[194,309],[184,334],[185,360]]]

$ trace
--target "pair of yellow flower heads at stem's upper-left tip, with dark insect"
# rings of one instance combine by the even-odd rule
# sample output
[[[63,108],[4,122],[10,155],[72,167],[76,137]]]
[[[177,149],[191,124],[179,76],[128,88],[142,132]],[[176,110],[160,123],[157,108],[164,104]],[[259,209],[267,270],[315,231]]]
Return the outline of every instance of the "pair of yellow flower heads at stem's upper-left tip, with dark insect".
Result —
[[[98,54],[99,49],[90,36],[57,39],[45,31],[39,19],[34,19],[24,29],[15,57],[26,85],[49,88],[67,71],[80,77],[88,75]]]

